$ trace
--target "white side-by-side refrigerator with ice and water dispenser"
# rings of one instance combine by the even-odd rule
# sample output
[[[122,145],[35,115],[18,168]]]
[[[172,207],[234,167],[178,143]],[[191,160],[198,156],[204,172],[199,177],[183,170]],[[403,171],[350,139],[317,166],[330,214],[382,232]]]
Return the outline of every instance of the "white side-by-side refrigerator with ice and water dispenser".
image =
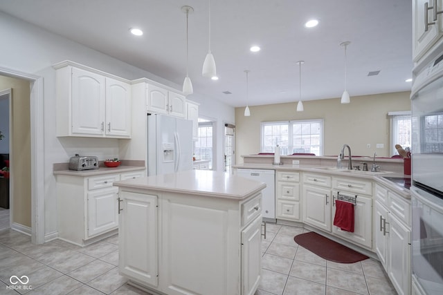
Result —
[[[147,116],[147,175],[192,169],[192,121]]]

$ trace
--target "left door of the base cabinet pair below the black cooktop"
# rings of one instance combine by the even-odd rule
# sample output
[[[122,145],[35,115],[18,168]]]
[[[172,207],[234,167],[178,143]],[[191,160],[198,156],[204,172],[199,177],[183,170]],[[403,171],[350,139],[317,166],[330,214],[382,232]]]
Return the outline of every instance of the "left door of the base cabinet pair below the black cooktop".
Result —
[[[386,269],[388,266],[388,236],[386,231],[388,228],[384,229],[386,218],[388,218],[388,210],[383,207],[379,201],[375,202],[374,207],[374,238],[375,238],[375,251],[383,267]],[[389,225],[386,225],[388,227]]]

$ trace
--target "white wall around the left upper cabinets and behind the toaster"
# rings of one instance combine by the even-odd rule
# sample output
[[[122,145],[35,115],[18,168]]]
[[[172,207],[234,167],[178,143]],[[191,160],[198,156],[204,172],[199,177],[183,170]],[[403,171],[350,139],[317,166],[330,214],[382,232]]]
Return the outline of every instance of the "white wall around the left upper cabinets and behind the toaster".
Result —
[[[181,89],[181,86],[10,17],[3,12],[0,12],[0,35],[3,39],[14,40],[8,46],[0,47],[0,56],[8,57],[1,59],[0,68],[11,68],[44,78],[44,203],[45,233],[48,235],[57,231],[56,182],[53,175],[53,163],[67,162],[75,151],[98,155],[100,160],[118,155],[119,151],[119,140],[57,138],[55,136],[55,70],[52,65],[69,59],[126,79],[147,77],[176,89]],[[215,117],[218,120],[224,118],[223,120],[234,121],[234,108],[228,106],[215,108],[211,104],[218,106],[221,103],[204,96],[191,95],[189,98],[201,103],[201,115]],[[222,151],[223,149],[217,151],[217,158],[223,157]]]

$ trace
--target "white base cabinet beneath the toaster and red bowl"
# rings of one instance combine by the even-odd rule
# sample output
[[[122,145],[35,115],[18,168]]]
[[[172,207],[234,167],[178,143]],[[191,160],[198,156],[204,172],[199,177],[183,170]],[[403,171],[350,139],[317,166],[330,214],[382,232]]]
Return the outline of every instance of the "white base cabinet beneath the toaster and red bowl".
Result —
[[[120,179],[140,177],[141,171],[96,176],[57,175],[57,221],[59,238],[75,245],[88,245],[118,229]],[[125,175],[125,177],[123,177]]]

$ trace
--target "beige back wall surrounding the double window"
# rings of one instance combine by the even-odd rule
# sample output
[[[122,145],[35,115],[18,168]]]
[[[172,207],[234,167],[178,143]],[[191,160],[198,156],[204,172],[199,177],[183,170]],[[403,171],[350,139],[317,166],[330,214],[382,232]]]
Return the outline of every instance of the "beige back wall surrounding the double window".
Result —
[[[352,155],[389,155],[390,111],[410,111],[410,92],[383,93],[351,97],[350,104],[339,98],[303,102],[305,111],[296,111],[296,102],[249,106],[251,117],[244,117],[244,107],[235,108],[236,162],[241,155],[260,152],[260,123],[286,120],[323,119],[323,155],[337,155],[349,144]],[[371,147],[368,149],[367,144]],[[376,149],[376,144],[384,144]]]

